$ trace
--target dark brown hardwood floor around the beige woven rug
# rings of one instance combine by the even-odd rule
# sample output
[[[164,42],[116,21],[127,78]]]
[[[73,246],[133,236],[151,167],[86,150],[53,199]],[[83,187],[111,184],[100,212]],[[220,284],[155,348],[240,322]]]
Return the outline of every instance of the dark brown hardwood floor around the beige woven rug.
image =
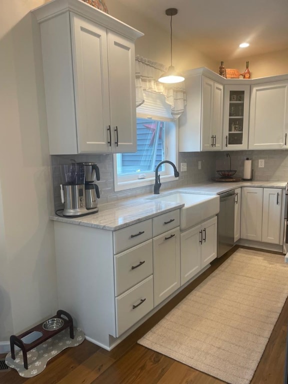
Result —
[[[32,378],[23,378],[11,369],[0,372],[0,384],[219,384],[223,381],[197,371],[160,353],[147,349],[137,340],[153,327],[180,300],[203,281],[236,249],[234,247],[192,281],[110,352],[84,340],[66,348],[49,360],[46,368]],[[288,300],[275,324],[251,384],[282,384]],[[4,355],[0,355],[4,358]]]

